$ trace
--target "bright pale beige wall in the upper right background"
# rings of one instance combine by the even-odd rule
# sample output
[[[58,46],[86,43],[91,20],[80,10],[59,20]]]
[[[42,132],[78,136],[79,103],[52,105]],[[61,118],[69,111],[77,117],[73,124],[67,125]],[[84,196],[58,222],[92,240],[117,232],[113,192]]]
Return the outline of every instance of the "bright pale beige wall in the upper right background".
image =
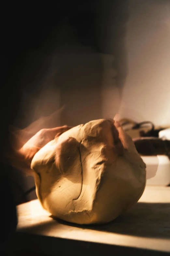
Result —
[[[170,1],[130,0],[126,47],[120,117],[169,125]]]

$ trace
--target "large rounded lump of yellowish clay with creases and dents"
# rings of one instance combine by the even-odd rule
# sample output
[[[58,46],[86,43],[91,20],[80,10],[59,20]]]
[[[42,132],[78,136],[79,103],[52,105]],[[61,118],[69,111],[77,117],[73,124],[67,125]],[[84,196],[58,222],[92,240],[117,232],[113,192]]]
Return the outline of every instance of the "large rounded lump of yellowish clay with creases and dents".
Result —
[[[106,223],[141,197],[146,165],[113,120],[94,120],[50,141],[34,156],[36,194],[53,216]]]

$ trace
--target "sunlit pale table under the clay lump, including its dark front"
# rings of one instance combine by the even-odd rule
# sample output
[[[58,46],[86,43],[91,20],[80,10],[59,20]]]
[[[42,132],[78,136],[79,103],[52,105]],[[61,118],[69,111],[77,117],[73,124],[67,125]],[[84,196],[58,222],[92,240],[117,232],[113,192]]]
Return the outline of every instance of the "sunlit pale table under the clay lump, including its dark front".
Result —
[[[22,204],[17,210],[18,249],[45,255],[57,255],[62,248],[62,255],[66,255],[66,247],[84,252],[89,248],[88,255],[99,255],[102,248],[106,255],[112,251],[119,254],[122,248],[131,255],[170,252],[170,187],[146,187],[133,208],[105,225],[80,226],[53,219],[38,200]],[[74,251],[74,255],[79,254]]]

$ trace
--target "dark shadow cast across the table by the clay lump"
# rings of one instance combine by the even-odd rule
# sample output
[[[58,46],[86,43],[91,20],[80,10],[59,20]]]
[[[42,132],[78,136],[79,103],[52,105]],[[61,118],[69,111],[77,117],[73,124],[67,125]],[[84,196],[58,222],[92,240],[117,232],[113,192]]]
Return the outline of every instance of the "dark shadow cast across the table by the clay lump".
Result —
[[[55,218],[54,218],[55,219]],[[76,225],[57,219],[61,224],[125,235],[170,238],[170,204],[137,203],[114,221],[103,225]]]

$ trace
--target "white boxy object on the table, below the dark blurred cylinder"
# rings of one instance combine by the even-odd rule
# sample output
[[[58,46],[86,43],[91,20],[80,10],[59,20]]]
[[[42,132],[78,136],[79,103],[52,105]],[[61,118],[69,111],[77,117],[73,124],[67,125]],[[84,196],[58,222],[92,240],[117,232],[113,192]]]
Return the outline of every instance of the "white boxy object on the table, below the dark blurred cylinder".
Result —
[[[170,184],[170,160],[167,156],[141,156],[146,163],[149,186],[168,186]]]

